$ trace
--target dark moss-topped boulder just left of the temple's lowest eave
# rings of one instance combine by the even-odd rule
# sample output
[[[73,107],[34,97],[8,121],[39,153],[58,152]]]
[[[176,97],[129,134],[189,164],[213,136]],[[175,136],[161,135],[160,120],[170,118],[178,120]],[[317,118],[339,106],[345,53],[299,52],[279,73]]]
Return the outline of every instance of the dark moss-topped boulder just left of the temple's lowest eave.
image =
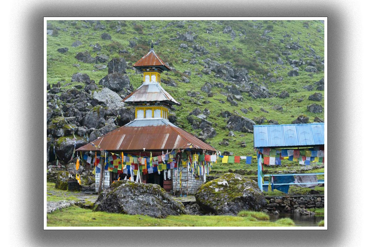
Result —
[[[54,141],[55,146],[55,154],[58,157],[58,160],[62,160],[63,162],[68,162],[73,154],[73,148],[78,149],[82,147],[87,142],[84,139],[78,139],[76,136],[76,147],[75,141],[73,137],[59,137],[57,140]]]

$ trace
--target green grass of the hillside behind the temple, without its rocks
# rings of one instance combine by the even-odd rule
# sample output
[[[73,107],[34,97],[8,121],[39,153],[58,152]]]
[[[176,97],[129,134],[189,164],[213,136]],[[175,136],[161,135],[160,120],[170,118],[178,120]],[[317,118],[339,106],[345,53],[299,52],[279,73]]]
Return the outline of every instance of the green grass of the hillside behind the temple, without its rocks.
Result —
[[[171,24],[170,24],[171,23]],[[102,29],[104,26],[105,29]],[[227,27],[232,27],[236,37],[232,39],[230,33],[223,33]],[[121,27],[119,31],[117,31]],[[71,88],[83,83],[71,82],[72,74],[76,72],[86,73],[96,84],[108,73],[108,68],[97,70],[94,63],[83,63],[75,59],[76,53],[89,51],[92,57],[97,52],[93,51],[96,43],[101,45],[98,54],[105,54],[111,60],[114,57],[125,57],[127,62],[135,63],[145,53],[148,52],[148,41],[157,42],[154,49],[156,53],[174,67],[176,71],[169,71],[162,74],[162,79],[173,79],[178,84],[171,87],[161,83],[181,106],[177,106],[174,114],[177,116],[176,124],[185,130],[198,135],[200,130],[193,130],[187,121],[188,114],[198,107],[201,111],[205,108],[210,110],[208,121],[214,124],[217,136],[207,140],[212,146],[220,151],[232,151],[236,155],[254,154],[253,134],[240,133],[234,131],[234,137],[228,137],[229,130],[225,129],[226,120],[218,116],[221,111],[228,110],[254,119],[254,117],[265,117],[267,120],[277,120],[279,124],[292,123],[299,115],[305,114],[309,117],[309,122],[313,122],[315,117],[324,119],[324,112],[310,113],[307,106],[317,103],[324,107],[324,100],[311,101],[308,96],[320,92],[324,96],[324,91],[316,91],[315,83],[324,77],[324,24],[320,21],[100,21],[99,23],[85,21],[48,21],[47,29],[53,30],[52,35],[47,35],[47,82],[56,84],[60,82],[62,88]],[[207,31],[209,30],[209,31]],[[197,35],[193,42],[177,39],[177,36],[192,31],[192,35]],[[108,33],[112,39],[103,40],[101,35]],[[177,34],[178,33],[178,34]],[[289,35],[286,35],[289,34]],[[284,37],[286,36],[286,37]],[[72,47],[71,44],[79,40],[81,46]],[[129,46],[129,40],[135,41],[137,46]],[[289,49],[286,46],[293,42],[299,44],[301,48]],[[181,48],[180,44],[187,44],[188,48]],[[192,45],[204,46],[207,54],[196,52]],[[66,53],[59,53],[57,49],[68,47]],[[119,53],[126,50],[128,53]],[[190,52],[191,51],[191,52]],[[285,55],[289,51],[291,55]],[[279,65],[278,58],[283,61]],[[289,97],[281,99],[270,97],[267,99],[253,99],[248,93],[242,93],[243,101],[237,101],[238,106],[233,106],[226,101],[226,96],[221,94],[225,89],[213,87],[213,97],[201,91],[205,83],[223,83],[225,86],[232,85],[232,82],[216,78],[215,73],[203,74],[204,59],[211,59],[221,64],[229,61],[234,68],[245,68],[249,71],[250,80],[258,85],[264,85],[272,94],[280,94],[283,90],[288,91]],[[188,59],[183,62],[183,59]],[[189,61],[196,59],[197,64],[190,64]],[[306,64],[298,66],[299,76],[290,77],[288,72],[293,70],[288,60],[302,59]],[[108,60],[108,61],[109,61]],[[316,73],[306,72],[304,69],[311,61],[315,64]],[[79,67],[73,66],[79,64]],[[106,64],[106,63],[104,63]],[[182,82],[183,72],[191,71],[188,77],[189,83]],[[130,81],[135,88],[142,83],[142,75],[135,73],[132,69],[127,69]],[[202,74],[202,77],[199,76]],[[280,81],[282,77],[282,81]],[[270,79],[276,79],[271,82]],[[239,82],[234,84],[238,85]],[[304,86],[314,86],[313,91],[303,89]],[[101,87],[101,86],[100,86]],[[199,92],[194,98],[187,96],[190,91]],[[201,98],[202,97],[202,98]],[[298,102],[298,99],[303,99]],[[204,104],[205,100],[210,101]],[[221,103],[220,101],[225,101]],[[281,105],[282,111],[274,110],[272,107]],[[241,109],[252,111],[243,113]],[[269,113],[260,109],[263,108]],[[263,123],[267,124],[267,122]],[[229,146],[221,146],[219,143],[223,138],[229,139]],[[241,143],[246,142],[246,147],[241,147]]]

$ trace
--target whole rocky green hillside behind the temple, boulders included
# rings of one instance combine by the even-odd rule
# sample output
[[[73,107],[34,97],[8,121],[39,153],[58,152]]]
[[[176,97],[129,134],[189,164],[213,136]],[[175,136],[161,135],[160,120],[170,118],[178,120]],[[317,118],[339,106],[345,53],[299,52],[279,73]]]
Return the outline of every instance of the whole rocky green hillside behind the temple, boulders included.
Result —
[[[48,21],[47,148],[76,147],[134,118],[121,99],[149,50],[172,70],[170,120],[220,151],[253,154],[253,124],[324,119],[321,21]],[[73,131],[72,131],[73,130]]]

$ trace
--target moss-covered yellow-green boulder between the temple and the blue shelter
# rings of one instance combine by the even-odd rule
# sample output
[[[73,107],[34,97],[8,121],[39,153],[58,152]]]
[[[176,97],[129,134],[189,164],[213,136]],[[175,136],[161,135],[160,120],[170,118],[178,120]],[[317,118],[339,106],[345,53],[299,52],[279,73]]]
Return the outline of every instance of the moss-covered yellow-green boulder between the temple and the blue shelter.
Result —
[[[267,204],[254,180],[234,173],[226,173],[201,185],[195,197],[202,211],[218,215],[236,215],[242,210],[260,211]]]

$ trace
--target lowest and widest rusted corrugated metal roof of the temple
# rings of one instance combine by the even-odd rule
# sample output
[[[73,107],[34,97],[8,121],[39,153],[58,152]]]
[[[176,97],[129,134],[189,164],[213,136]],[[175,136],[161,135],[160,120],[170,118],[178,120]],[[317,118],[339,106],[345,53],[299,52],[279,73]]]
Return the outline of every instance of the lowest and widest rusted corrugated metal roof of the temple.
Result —
[[[152,121],[148,121],[148,119],[135,119],[91,143],[102,150],[110,151],[135,151],[143,150],[143,148],[146,150],[195,148],[216,151],[209,144],[204,143],[165,119],[152,119]],[[98,150],[91,143],[78,148],[77,151]]]

